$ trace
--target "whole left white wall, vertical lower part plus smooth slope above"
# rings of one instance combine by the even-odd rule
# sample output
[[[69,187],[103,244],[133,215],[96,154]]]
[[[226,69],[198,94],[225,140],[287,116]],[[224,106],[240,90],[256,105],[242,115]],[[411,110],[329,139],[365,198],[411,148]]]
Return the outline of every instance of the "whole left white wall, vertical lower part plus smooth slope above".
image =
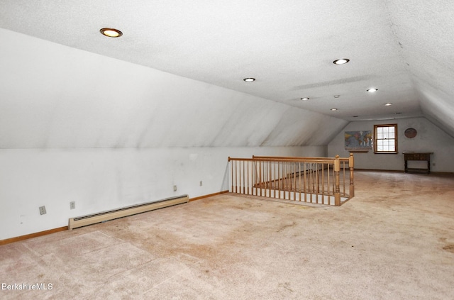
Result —
[[[1,28],[0,40],[0,240],[226,190],[228,156],[323,156],[348,123]]]

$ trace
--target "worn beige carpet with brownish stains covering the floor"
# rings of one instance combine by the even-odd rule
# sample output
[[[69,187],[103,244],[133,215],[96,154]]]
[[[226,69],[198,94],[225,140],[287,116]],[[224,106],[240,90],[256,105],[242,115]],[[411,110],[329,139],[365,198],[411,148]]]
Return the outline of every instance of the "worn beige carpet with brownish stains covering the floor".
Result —
[[[355,186],[341,207],[222,194],[3,245],[0,299],[454,299],[454,177]]]

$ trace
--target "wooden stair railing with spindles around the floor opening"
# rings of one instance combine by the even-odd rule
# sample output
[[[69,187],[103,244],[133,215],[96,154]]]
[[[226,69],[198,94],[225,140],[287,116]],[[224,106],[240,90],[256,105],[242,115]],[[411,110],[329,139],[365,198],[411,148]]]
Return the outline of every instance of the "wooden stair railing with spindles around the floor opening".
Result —
[[[233,193],[336,206],[355,196],[351,153],[346,158],[253,156],[228,161]]]

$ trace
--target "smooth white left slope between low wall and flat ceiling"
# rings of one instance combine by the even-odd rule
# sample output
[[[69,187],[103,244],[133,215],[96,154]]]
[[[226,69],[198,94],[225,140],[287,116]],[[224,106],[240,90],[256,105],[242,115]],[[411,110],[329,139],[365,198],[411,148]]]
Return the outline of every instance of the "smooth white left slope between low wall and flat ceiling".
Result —
[[[0,38],[0,148],[327,145],[346,123],[10,30]]]

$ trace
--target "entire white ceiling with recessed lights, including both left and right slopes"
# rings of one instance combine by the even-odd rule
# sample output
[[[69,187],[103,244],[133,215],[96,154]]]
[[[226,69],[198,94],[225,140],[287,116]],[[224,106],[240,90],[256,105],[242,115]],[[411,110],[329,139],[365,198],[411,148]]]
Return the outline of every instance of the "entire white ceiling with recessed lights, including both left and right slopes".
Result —
[[[454,136],[453,16],[448,0],[0,0],[0,147],[326,145],[412,116]]]

